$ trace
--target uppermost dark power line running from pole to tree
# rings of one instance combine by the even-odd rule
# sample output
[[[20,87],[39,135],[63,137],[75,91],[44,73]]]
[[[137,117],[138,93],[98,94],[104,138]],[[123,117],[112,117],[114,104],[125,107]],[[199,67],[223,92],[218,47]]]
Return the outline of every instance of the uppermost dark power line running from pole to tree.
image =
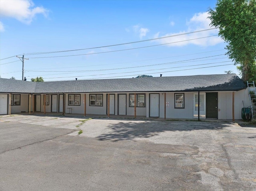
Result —
[[[146,41],[152,41],[152,40],[159,40],[159,39],[164,39],[164,38],[169,38],[169,37],[176,37],[176,36],[180,36],[180,35],[187,35],[187,34],[192,34],[192,33],[204,32],[204,31],[214,30],[214,29],[217,29],[217,28],[210,28],[210,29],[199,30],[199,31],[194,31],[194,32],[181,33],[181,34],[170,35],[170,36],[165,36],[165,37],[158,37],[158,38],[154,38],[154,39],[147,39],[147,40],[134,41],[134,42],[128,42],[128,43],[120,43],[120,44],[114,44],[114,45],[106,45],[106,46],[99,46],[99,47],[92,47],[92,48],[74,49],[74,50],[64,50],[64,51],[26,53],[26,55],[50,54],[50,53],[80,51],[80,50],[88,50],[88,49],[96,49],[96,48],[105,48],[105,47],[112,47],[112,46],[119,46],[119,45],[127,45],[127,44],[132,44],[132,43],[140,43],[140,42],[146,42]]]

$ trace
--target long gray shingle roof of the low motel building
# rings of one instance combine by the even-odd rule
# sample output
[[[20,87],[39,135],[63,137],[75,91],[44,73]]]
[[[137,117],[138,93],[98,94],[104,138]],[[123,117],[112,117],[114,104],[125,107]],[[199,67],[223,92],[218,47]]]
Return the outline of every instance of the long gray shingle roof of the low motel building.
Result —
[[[108,93],[238,91],[246,86],[236,74],[28,82],[0,79],[2,93]]]

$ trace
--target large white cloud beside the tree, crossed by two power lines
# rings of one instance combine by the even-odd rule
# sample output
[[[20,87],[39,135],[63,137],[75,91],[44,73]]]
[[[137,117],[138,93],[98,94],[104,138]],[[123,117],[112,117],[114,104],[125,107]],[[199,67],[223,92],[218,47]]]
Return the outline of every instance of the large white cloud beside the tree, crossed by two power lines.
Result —
[[[188,33],[188,32],[212,28],[210,27],[210,19],[207,18],[208,16],[209,16],[208,12],[194,14],[194,16],[190,18],[188,22],[186,22],[186,25],[188,27],[186,30],[178,33],[167,33],[165,35],[160,35],[160,32],[158,32],[154,35],[154,37],[157,38],[157,37],[164,37],[164,36],[170,36],[170,35],[178,35],[182,33]],[[209,45],[212,46],[212,45],[216,45],[218,43],[223,42],[223,40],[218,36],[196,39],[196,40],[191,40],[191,39],[217,35],[217,34],[218,34],[218,29],[214,29],[214,30],[208,30],[204,32],[191,33],[187,35],[180,35],[176,37],[160,39],[159,42],[170,43],[168,44],[168,46],[185,46],[188,44],[194,44],[199,46],[209,46]],[[183,41],[183,42],[172,43],[177,41]]]

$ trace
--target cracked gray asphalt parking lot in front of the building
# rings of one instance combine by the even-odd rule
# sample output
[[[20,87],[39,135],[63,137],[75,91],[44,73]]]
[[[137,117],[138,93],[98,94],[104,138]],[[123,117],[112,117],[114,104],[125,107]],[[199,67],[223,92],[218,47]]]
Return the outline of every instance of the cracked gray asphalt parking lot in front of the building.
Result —
[[[255,191],[255,164],[255,126],[0,116],[1,191]]]

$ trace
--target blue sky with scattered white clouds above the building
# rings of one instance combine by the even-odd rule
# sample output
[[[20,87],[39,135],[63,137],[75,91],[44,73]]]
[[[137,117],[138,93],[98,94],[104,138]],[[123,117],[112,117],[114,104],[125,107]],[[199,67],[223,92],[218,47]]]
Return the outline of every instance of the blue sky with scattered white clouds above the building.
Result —
[[[204,75],[229,70],[238,75],[224,55],[226,43],[209,26],[207,10],[215,4],[216,0],[1,0],[0,75],[21,80],[22,62],[15,56],[23,54],[28,58],[24,62],[28,80]],[[206,31],[197,32],[202,30]],[[160,37],[166,38],[143,41]],[[84,50],[66,51],[76,49]],[[31,54],[55,51],[66,52]]]

